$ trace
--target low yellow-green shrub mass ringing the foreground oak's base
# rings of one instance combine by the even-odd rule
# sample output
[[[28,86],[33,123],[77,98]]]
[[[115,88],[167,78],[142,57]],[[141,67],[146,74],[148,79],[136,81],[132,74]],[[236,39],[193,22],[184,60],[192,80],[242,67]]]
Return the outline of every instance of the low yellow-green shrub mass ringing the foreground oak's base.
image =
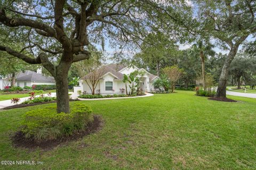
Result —
[[[75,104],[70,113],[57,113],[56,106],[34,109],[23,116],[21,132],[35,141],[55,140],[83,131],[93,120],[92,109]]]

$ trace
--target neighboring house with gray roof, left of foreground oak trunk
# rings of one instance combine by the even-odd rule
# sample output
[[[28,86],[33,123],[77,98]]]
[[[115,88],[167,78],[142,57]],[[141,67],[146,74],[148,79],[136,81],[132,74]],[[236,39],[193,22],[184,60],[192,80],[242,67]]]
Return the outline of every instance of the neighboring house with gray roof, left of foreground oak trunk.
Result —
[[[26,70],[25,72],[20,72],[16,78],[16,86],[18,87],[31,87],[33,84],[46,84],[46,85],[54,85],[55,80],[53,77],[46,77],[40,71],[34,72],[30,70]]]

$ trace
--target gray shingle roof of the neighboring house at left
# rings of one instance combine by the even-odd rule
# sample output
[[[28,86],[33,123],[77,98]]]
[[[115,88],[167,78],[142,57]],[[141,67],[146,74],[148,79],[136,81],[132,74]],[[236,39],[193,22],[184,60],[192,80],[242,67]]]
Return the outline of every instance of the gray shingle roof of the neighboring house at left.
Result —
[[[30,70],[26,70],[24,73],[20,72],[17,76],[17,81],[55,82],[53,77],[46,77]]]

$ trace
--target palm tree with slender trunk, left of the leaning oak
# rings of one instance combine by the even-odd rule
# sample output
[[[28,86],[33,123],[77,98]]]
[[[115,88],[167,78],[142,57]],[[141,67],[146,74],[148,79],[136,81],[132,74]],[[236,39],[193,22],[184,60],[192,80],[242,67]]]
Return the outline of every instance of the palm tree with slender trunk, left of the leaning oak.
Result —
[[[210,43],[209,40],[198,40],[196,44],[192,46],[191,53],[196,57],[199,55],[201,58],[202,64],[202,79],[203,79],[203,88],[206,90],[205,86],[205,58],[207,56],[214,56],[215,52],[213,50],[213,45]]]

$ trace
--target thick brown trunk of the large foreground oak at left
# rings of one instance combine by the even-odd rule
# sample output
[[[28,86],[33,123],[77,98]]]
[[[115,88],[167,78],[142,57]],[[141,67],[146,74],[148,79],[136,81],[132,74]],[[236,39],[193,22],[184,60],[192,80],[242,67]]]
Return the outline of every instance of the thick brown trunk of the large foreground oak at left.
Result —
[[[63,64],[56,67],[54,78],[56,82],[57,113],[69,113],[68,70],[70,65]]]

